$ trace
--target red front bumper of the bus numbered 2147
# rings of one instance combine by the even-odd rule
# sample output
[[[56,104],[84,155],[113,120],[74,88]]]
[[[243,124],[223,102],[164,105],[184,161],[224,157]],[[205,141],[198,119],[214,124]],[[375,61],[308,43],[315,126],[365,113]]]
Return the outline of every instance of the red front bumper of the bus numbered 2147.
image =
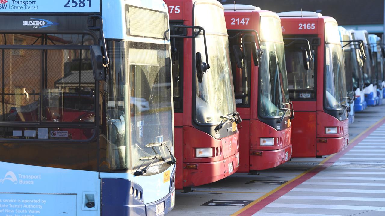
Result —
[[[290,144],[278,150],[250,150],[250,171],[269,169],[287,162],[292,149]]]

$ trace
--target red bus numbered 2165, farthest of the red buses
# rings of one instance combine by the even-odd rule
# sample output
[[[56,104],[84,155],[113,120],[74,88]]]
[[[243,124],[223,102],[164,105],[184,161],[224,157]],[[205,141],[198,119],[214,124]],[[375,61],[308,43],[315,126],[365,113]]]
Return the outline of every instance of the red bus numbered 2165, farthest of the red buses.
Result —
[[[282,12],[278,16],[287,44],[288,88],[295,107],[292,157],[321,158],[339,152],[348,145],[349,105],[338,24],[316,12]],[[308,42],[311,61],[302,58]],[[310,65],[309,70],[302,65]]]

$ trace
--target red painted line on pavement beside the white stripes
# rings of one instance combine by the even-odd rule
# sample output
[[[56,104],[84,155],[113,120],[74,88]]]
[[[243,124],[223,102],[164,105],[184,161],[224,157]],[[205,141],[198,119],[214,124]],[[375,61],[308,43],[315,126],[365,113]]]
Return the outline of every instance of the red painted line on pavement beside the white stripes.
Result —
[[[291,189],[295,188],[296,186],[300,185],[304,181],[315,176],[315,174],[319,173],[320,171],[333,165],[338,159],[341,158],[341,156],[345,155],[345,153],[347,153],[349,150],[351,150],[354,146],[356,146],[358,143],[360,143],[363,139],[365,139],[367,136],[369,136],[374,130],[376,130],[378,127],[380,127],[384,123],[385,123],[385,118],[378,121],[377,123],[375,123],[375,125],[373,125],[365,133],[358,135],[358,137],[352,143],[350,143],[350,145],[348,145],[348,147],[345,150],[340,151],[340,152],[336,153],[335,155],[331,156],[331,158],[329,158],[328,160],[321,162],[321,164],[316,166],[314,169],[312,169],[308,173],[305,173],[300,178],[295,179],[294,181],[285,185],[283,188],[279,189],[275,193],[267,196],[266,198],[262,199],[261,201],[254,204],[253,206],[250,206],[248,209],[239,213],[238,216],[251,216],[251,215],[257,213],[259,210],[263,209],[268,204],[272,203],[276,199],[280,198],[281,196],[283,196],[286,193],[288,193],[289,191],[291,191]]]

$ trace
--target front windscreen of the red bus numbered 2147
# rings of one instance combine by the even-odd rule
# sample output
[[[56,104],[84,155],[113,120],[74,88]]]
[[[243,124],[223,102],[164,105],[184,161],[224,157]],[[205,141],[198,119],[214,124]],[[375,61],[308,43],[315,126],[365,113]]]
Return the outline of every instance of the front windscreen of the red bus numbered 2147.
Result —
[[[264,118],[276,118],[283,115],[289,102],[284,43],[278,19],[261,17],[261,40],[258,112]]]

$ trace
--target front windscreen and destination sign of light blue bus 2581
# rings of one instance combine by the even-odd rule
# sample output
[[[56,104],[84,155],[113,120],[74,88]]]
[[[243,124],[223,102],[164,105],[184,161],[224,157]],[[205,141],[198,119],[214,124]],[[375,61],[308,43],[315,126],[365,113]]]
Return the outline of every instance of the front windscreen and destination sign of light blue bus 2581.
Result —
[[[137,10],[142,9],[130,10],[134,13],[130,16],[158,20],[161,14],[161,18],[167,18],[167,13]],[[166,23],[157,23],[159,32],[166,32],[169,28]],[[140,25],[131,23],[130,34],[146,34],[134,32],[136,24]],[[147,41],[152,43],[119,40],[107,43],[112,63],[107,82],[107,147],[105,161],[101,162],[103,169],[135,172],[151,164],[147,174],[157,174],[169,167],[165,162],[171,160],[174,146],[170,45],[165,40]]]

